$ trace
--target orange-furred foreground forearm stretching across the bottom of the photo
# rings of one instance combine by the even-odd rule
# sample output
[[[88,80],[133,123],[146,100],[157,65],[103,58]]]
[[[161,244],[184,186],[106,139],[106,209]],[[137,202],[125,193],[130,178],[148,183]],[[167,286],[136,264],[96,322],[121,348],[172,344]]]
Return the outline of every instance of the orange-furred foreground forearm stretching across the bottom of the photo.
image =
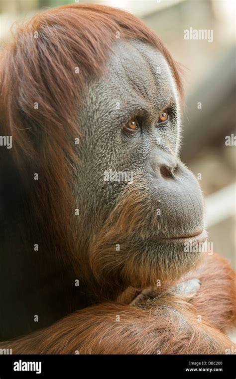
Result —
[[[158,303],[150,311],[115,303],[89,307],[4,347],[13,354],[226,354],[232,349],[224,334],[199,323],[181,299]]]

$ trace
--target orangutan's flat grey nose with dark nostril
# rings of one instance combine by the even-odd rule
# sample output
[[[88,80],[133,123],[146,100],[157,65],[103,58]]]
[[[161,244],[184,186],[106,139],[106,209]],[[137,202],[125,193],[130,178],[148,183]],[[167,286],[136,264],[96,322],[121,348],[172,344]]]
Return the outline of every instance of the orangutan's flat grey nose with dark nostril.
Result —
[[[155,176],[163,178],[173,178],[177,167],[176,159],[171,154],[155,154],[151,158],[150,166],[155,173]]]

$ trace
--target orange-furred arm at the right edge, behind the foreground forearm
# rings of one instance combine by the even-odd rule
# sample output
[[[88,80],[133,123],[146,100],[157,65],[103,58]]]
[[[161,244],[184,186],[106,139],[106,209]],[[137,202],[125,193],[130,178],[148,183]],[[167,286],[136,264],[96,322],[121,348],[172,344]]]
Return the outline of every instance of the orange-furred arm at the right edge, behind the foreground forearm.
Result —
[[[156,288],[144,290],[132,304],[153,306],[159,292]],[[172,292],[179,293],[193,306],[199,322],[223,331],[236,322],[236,273],[228,261],[218,254],[206,255],[201,266],[185,275]],[[166,294],[162,296],[165,298]]]

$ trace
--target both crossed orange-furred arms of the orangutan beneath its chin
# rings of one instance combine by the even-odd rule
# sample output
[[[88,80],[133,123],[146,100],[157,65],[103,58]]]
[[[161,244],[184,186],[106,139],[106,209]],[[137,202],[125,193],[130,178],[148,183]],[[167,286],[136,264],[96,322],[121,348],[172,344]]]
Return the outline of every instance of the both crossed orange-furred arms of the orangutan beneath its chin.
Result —
[[[188,274],[196,276],[202,284],[193,298],[163,292],[144,301],[146,309],[88,307],[1,347],[13,354],[226,354],[234,344],[219,329],[235,319],[235,273],[214,254]]]

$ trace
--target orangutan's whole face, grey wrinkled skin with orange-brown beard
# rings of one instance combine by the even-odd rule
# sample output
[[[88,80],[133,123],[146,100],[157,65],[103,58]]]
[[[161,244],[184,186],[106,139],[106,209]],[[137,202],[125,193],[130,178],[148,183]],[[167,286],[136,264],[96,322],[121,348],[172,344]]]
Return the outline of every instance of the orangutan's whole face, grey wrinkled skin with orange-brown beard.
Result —
[[[89,254],[87,275],[96,278],[106,296],[107,282],[122,290],[179,277],[201,255],[184,252],[184,237],[204,229],[198,182],[178,158],[179,99],[170,68],[141,41],[118,40],[113,50],[107,72],[88,83],[80,105],[75,190],[80,259]],[[164,109],[170,120],[158,127]],[[140,126],[135,135],[123,129],[132,118]],[[131,171],[133,183],[104,181],[109,170]]]

